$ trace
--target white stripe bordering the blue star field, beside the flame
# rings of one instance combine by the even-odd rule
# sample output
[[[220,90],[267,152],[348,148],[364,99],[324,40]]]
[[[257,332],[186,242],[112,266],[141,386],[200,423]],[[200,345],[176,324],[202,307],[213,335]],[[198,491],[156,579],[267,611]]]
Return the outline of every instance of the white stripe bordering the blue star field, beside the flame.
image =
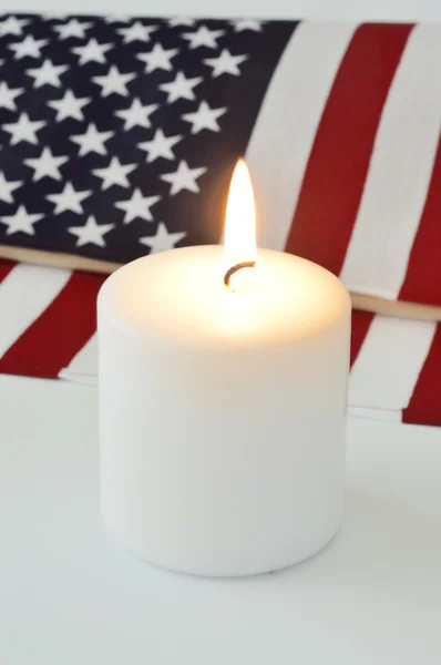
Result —
[[[301,23],[268,85],[246,151],[261,247],[285,248],[317,127],[356,27]]]

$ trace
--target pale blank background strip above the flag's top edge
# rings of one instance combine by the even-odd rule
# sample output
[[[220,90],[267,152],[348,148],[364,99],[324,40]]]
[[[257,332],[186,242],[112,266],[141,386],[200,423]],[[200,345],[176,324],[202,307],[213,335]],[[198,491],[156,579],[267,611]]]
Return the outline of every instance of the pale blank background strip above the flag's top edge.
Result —
[[[4,11],[440,21],[440,0],[6,0]]]

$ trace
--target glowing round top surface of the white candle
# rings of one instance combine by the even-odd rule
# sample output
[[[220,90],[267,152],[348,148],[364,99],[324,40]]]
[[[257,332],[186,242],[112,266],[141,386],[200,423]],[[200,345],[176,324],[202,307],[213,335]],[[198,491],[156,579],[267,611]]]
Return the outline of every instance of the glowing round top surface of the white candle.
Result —
[[[146,256],[104,283],[100,316],[152,341],[234,347],[290,344],[320,335],[349,316],[342,284],[309,260],[258,249],[256,268],[246,273],[232,279],[238,290],[225,287],[218,245]]]

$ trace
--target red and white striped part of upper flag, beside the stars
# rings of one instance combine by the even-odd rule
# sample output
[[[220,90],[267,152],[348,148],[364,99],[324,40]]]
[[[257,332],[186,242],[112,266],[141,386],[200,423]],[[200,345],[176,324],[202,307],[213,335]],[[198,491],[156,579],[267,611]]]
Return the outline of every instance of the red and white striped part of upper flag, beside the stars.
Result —
[[[440,305],[440,38],[437,25],[296,29],[247,146],[273,221],[264,246],[351,291]]]

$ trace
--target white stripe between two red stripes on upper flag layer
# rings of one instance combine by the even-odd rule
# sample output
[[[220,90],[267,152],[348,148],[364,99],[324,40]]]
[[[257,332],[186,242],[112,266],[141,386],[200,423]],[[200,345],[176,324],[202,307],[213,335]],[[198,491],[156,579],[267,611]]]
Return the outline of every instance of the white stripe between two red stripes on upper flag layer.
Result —
[[[340,274],[353,291],[398,297],[439,140],[440,72],[439,27],[414,28],[384,104]]]

